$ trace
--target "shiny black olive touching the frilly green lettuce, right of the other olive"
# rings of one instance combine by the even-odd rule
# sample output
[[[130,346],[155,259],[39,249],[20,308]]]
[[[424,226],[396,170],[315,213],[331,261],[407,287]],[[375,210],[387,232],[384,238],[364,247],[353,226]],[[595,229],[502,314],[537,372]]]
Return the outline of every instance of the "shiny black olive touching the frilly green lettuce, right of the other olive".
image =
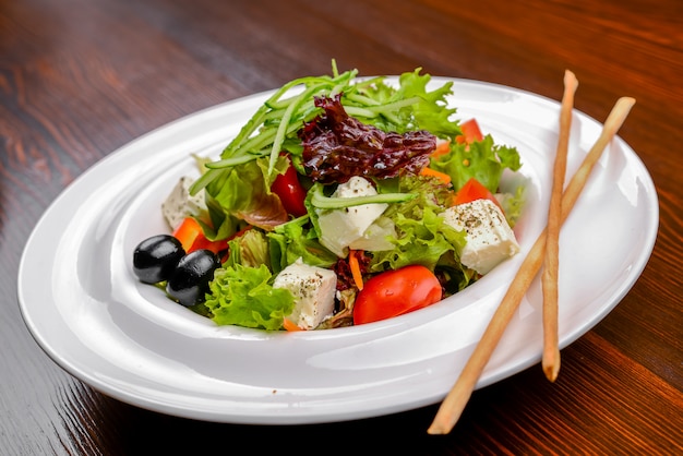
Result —
[[[178,262],[166,284],[166,292],[182,305],[190,307],[204,301],[208,283],[220,261],[209,250],[195,250]]]

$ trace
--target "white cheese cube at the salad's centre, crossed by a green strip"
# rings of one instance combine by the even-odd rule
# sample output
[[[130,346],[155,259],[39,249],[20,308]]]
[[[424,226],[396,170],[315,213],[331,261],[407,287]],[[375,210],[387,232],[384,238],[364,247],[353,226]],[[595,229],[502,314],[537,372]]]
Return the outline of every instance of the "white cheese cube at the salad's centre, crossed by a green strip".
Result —
[[[370,181],[355,176],[347,182],[339,184],[332,196],[356,197],[376,194],[378,191]],[[321,230],[320,242],[337,256],[346,256],[346,249],[354,241],[363,238],[368,228],[387,207],[388,204],[374,203],[321,212],[317,218]]]

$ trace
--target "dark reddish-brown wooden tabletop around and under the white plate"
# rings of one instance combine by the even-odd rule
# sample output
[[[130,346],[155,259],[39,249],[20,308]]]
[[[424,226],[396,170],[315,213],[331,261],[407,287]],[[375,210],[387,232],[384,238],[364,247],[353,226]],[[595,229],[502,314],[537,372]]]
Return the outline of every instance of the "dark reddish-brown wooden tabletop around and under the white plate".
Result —
[[[571,69],[576,108],[599,120],[618,97],[637,99],[620,135],[657,185],[659,236],[633,289],[563,350],[558,382],[529,368],[477,391],[450,435],[430,436],[436,405],[217,424],[122,404],[55,364],[22,321],[16,278],[60,191],[152,129],[328,73],[332,58],[366,75],[422,67],[554,99]],[[683,454],[682,83],[680,0],[0,0],[0,454]]]

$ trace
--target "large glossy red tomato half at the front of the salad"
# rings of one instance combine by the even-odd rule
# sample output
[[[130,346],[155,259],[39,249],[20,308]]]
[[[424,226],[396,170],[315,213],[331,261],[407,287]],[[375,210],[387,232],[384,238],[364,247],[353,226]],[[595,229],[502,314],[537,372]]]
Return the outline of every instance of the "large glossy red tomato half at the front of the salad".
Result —
[[[354,304],[354,324],[376,322],[441,301],[441,284],[424,266],[387,271],[366,281]]]

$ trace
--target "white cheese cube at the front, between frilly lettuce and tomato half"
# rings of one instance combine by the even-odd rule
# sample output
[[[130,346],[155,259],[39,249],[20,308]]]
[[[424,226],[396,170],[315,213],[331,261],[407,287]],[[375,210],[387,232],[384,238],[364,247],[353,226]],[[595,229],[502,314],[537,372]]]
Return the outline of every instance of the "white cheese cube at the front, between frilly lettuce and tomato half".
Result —
[[[288,316],[302,329],[313,329],[334,312],[337,275],[334,271],[304,264],[301,259],[275,277],[274,288],[286,288],[295,297]]]

